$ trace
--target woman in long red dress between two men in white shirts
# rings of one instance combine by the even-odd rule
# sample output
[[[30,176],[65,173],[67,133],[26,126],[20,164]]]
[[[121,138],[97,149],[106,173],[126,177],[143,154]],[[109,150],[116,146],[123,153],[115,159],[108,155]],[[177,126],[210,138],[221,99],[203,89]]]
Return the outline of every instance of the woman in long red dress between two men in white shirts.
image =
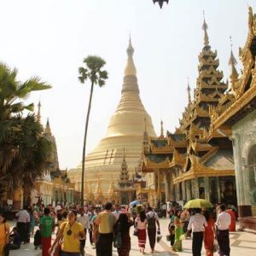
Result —
[[[210,216],[208,211],[204,212],[204,216],[207,220],[207,226],[204,233],[204,244],[207,256],[213,256],[214,237],[215,237],[215,222]]]

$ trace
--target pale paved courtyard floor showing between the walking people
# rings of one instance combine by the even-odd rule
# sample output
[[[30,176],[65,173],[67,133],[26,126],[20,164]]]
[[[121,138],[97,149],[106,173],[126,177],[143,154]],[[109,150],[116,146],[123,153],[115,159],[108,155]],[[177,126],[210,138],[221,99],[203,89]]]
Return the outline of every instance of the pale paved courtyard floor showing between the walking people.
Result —
[[[182,253],[173,253],[171,251],[170,242],[166,241],[167,227],[169,221],[167,219],[160,220],[160,228],[162,233],[162,240],[157,243],[155,247],[155,253],[150,253],[149,244],[147,241],[146,245],[146,255],[191,255],[191,244],[190,239],[183,240],[183,252]],[[14,224],[14,223],[13,223]],[[133,229],[131,228],[131,234]],[[231,246],[231,256],[252,256],[256,255],[256,235],[246,232],[233,232],[230,233],[230,246]],[[86,256],[96,255],[95,249],[90,247],[89,237],[87,237],[86,247],[85,247]],[[141,253],[137,247],[137,237],[131,235],[131,256],[140,255]],[[204,255],[204,248],[202,249],[202,255]],[[12,251],[10,256],[39,256],[41,252],[39,250],[34,250],[32,241],[30,244],[21,245],[20,250]],[[113,255],[117,256],[118,253],[113,249]],[[215,253],[214,255],[218,255]]]

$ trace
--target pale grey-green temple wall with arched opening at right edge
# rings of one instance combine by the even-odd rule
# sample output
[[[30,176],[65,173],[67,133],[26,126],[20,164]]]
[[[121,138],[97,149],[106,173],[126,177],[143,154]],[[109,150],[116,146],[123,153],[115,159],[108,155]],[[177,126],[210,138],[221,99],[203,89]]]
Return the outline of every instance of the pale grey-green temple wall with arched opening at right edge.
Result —
[[[232,137],[239,215],[256,216],[256,173],[247,166],[249,150],[256,145],[256,110],[233,125]]]

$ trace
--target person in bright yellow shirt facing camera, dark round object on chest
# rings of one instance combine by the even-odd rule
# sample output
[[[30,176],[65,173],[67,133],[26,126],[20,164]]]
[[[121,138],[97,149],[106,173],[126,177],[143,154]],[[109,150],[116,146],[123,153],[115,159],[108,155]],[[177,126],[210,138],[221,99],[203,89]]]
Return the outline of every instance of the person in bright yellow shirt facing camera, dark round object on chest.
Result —
[[[49,253],[53,252],[55,245],[62,238],[61,256],[80,256],[80,240],[84,237],[84,227],[77,222],[77,212],[70,209],[67,214],[67,222],[61,224],[61,230],[50,247]]]

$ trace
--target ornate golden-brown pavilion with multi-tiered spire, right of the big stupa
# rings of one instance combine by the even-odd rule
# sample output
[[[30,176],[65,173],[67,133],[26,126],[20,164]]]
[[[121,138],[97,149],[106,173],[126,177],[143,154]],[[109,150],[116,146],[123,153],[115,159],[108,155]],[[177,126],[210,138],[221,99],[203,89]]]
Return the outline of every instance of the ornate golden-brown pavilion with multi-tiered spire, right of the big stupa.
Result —
[[[198,56],[198,77],[194,96],[188,84],[188,105],[179,119],[174,133],[163,131],[160,137],[148,139],[144,144],[142,172],[146,185],[142,190],[148,202],[189,201],[205,198],[212,203],[226,202],[236,206],[236,180],[230,127],[224,133],[214,131],[207,140],[207,131],[212,129],[212,111],[222,104],[229,88],[223,81],[223,72],[218,69],[217,50],[212,50],[204,19],[203,48]],[[231,53],[231,61],[233,60]],[[230,64],[232,65],[232,64]],[[228,99],[227,99],[228,100]]]

